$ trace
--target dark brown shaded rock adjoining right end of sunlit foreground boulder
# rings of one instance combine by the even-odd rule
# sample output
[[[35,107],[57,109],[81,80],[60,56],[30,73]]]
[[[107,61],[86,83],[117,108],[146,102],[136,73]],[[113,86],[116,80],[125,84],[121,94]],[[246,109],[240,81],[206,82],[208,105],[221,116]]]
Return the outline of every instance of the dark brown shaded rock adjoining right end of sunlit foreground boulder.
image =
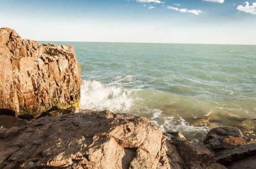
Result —
[[[168,158],[173,169],[226,169],[214,160],[208,149],[188,141],[166,142]]]

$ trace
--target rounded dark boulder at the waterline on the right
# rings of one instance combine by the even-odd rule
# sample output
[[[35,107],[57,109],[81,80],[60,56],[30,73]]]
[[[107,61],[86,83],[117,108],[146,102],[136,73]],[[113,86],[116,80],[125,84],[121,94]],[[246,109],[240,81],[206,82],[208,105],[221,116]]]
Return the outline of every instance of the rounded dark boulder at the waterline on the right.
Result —
[[[233,127],[216,127],[212,130],[210,130],[207,135],[206,138],[204,140],[204,143],[206,141],[209,141],[213,138],[217,138],[220,136],[244,136],[242,134],[242,132],[237,129],[237,128],[233,128]]]

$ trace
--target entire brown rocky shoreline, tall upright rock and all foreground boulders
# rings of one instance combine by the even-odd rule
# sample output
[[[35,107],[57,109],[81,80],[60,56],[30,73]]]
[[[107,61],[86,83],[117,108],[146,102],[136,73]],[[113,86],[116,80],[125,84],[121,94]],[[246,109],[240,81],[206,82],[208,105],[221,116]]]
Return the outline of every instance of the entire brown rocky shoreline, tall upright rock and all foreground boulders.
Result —
[[[1,169],[256,166],[256,142],[236,128],[214,128],[196,145],[146,117],[79,113],[81,70],[72,46],[40,45],[1,28],[0,56]]]

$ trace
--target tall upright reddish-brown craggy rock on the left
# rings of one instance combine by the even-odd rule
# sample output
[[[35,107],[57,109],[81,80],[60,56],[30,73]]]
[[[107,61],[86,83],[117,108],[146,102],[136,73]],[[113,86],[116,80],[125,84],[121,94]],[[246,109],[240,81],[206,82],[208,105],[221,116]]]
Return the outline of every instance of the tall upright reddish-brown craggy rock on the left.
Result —
[[[40,45],[1,28],[0,72],[0,114],[79,107],[81,69],[72,46]]]

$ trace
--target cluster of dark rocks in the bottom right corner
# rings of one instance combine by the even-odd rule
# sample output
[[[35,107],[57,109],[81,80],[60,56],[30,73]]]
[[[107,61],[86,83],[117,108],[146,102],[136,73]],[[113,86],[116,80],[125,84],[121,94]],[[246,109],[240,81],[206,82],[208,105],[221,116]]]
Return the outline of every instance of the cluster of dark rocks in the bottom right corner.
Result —
[[[214,153],[218,163],[230,169],[255,168],[256,141],[244,137],[239,129],[217,127],[207,134],[206,140],[204,146]]]

